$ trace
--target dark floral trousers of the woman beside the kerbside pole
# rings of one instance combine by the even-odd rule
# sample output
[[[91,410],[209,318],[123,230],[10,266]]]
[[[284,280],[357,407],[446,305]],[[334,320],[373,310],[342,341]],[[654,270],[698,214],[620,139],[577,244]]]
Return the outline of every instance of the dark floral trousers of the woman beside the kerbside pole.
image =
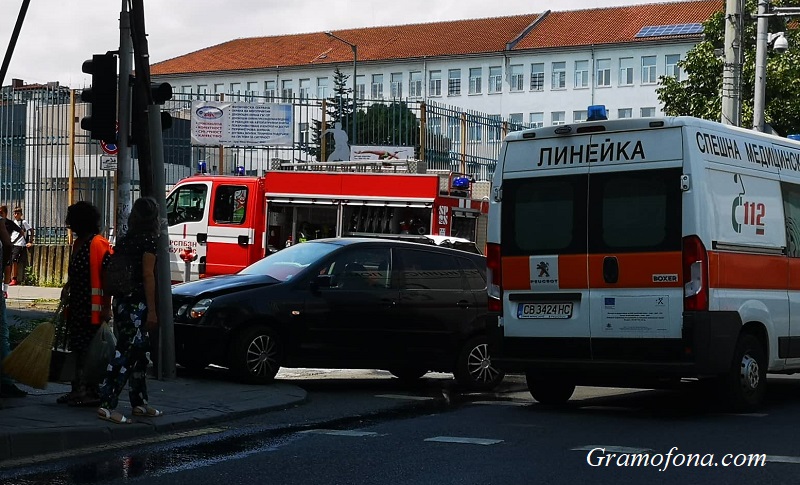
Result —
[[[100,386],[100,406],[115,409],[128,384],[131,407],[147,405],[145,376],[150,364],[150,335],[145,327],[147,305],[140,301],[114,301],[117,348]]]

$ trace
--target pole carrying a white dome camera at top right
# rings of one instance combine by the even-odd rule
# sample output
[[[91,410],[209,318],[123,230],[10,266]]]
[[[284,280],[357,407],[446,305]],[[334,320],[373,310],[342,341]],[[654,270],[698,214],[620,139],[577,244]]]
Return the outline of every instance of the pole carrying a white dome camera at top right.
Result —
[[[767,49],[772,47],[778,52],[786,52],[789,42],[784,37],[783,32],[770,34],[770,17],[789,17],[800,14],[800,8],[782,7],[774,8],[769,0],[758,2],[758,22],[756,24],[756,79],[753,93],[753,129],[764,131],[764,105],[767,91]]]

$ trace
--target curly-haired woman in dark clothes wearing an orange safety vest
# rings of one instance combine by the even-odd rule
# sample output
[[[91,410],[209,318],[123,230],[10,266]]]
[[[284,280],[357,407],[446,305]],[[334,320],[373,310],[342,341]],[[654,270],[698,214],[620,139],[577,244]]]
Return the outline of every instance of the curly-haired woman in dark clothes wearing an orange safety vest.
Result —
[[[76,376],[72,390],[57,402],[70,406],[97,406],[100,397],[97,382],[83,376],[86,351],[100,328],[111,318],[111,298],[103,295],[103,266],[111,244],[100,235],[100,211],[89,202],[80,201],[67,208],[67,227],[76,236],[67,270],[67,285],[62,300],[67,302],[68,346],[75,352]]]

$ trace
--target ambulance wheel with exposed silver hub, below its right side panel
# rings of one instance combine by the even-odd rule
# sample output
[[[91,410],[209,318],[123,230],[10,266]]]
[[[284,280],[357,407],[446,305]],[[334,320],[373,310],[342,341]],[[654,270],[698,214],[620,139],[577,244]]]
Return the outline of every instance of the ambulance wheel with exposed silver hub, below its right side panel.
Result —
[[[736,343],[730,372],[722,379],[727,405],[734,411],[755,411],[767,391],[767,357],[761,341],[742,334]]]

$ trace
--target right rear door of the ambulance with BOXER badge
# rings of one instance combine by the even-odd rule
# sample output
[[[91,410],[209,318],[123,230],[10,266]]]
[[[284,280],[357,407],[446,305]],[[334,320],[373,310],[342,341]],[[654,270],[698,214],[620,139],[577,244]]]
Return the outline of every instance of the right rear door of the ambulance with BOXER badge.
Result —
[[[586,145],[594,360],[683,352],[681,128],[650,127],[596,133]]]

